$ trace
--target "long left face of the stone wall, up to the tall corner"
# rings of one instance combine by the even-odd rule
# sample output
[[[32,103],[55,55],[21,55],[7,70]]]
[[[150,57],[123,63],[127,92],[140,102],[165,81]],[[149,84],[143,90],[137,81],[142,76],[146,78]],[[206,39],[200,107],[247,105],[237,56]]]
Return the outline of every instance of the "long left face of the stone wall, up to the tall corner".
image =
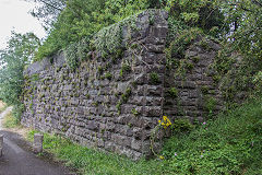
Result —
[[[150,154],[151,130],[163,115],[167,16],[139,14],[129,38],[133,47],[121,58],[94,50],[71,70],[60,52],[31,65],[22,124],[132,159]]]

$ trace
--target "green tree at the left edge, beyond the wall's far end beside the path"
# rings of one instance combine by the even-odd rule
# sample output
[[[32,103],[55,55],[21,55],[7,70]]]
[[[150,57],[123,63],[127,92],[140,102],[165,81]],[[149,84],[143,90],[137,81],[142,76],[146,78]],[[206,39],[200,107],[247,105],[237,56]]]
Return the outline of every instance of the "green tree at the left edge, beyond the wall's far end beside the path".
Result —
[[[39,44],[40,40],[33,33],[22,35],[12,32],[8,47],[0,50],[0,97],[14,106],[14,113],[21,107],[23,70],[26,65],[32,63]]]

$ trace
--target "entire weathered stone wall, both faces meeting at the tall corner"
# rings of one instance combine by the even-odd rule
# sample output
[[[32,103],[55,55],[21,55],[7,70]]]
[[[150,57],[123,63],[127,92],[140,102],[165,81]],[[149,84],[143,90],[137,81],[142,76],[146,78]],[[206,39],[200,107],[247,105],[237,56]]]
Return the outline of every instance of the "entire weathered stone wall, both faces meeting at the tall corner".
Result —
[[[177,74],[166,67],[167,18],[151,10],[136,15],[135,30],[123,26],[130,47],[120,58],[93,50],[72,70],[59,52],[31,65],[22,124],[135,160],[151,154],[151,132],[163,115],[193,122],[217,113],[223,101],[209,66],[219,45],[194,40],[184,58],[190,69]]]

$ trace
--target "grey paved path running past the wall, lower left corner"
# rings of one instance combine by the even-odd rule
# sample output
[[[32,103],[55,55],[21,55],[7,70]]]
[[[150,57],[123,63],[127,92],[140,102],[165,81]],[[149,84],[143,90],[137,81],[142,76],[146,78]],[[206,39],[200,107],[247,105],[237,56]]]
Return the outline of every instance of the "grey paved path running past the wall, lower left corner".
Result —
[[[3,116],[0,114],[0,135],[3,135],[3,156],[0,158],[0,175],[73,175],[69,170],[50,160],[37,158],[31,145],[20,135],[3,130]]]

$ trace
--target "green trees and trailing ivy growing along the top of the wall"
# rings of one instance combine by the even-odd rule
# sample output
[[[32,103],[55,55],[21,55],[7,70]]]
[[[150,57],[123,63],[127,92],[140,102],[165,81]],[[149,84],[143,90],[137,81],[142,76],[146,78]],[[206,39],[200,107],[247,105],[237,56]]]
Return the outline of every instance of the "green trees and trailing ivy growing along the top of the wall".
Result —
[[[176,28],[183,28],[182,26],[198,26],[214,35],[218,34],[217,31],[225,31],[225,26],[228,27],[223,23],[225,18],[219,11],[218,4],[213,1],[48,0],[48,2],[40,2],[41,8],[36,8],[33,14],[40,19],[45,26],[48,25],[49,36],[37,51],[36,60],[50,56],[59,49],[67,50],[72,43],[78,43],[83,38],[87,38],[95,44],[96,48],[102,50],[103,54],[115,52],[121,44],[121,25],[129,23],[134,30],[135,23],[128,16],[146,9],[165,9],[169,11],[172,24],[182,24],[174,26],[171,35],[176,35]],[[61,5],[58,7],[58,4]],[[48,9],[50,11],[49,15],[45,13]],[[51,24],[47,21],[50,15],[52,16],[51,21],[53,21]],[[118,23],[123,19],[126,19],[126,22]],[[114,23],[118,23],[118,25],[109,26]],[[94,35],[98,36],[99,39],[93,37]]]

